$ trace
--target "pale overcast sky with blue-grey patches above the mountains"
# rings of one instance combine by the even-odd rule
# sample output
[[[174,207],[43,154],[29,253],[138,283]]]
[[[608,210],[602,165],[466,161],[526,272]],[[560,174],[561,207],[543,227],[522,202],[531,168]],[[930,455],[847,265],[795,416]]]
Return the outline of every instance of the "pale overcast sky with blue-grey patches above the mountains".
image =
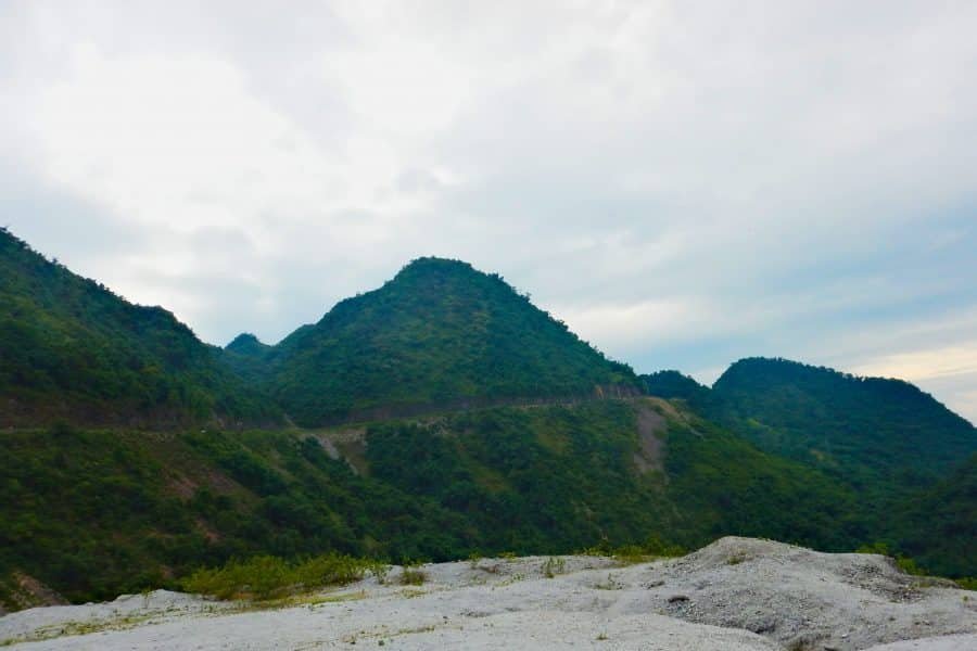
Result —
[[[437,255],[977,422],[977,3],[0,2],[0,221],[201,339]]]

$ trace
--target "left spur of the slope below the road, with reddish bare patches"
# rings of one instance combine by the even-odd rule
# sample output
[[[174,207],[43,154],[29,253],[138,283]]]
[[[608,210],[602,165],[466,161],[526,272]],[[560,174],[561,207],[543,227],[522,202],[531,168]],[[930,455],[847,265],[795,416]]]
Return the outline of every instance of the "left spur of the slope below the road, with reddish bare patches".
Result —
[[[0,458],[0,583],[22,572],[71,601],[177,587],[231,558],[467,550],[462,518],[301,434],[59,427],[3,433]]]

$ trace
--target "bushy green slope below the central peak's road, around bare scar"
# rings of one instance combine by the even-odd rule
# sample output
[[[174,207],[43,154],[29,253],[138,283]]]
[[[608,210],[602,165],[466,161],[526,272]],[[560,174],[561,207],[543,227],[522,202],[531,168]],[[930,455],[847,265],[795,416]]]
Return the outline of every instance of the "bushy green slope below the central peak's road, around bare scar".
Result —
[[[691,414],[669,424],[665,474],[639,472],[639,408],[494,408],[375,425],[371,476],[464,514],[486,554],[568,553],[597,541],[608,550],[645,541],[665,554],[725,534],[837,550],[861,540],[850,490]]]

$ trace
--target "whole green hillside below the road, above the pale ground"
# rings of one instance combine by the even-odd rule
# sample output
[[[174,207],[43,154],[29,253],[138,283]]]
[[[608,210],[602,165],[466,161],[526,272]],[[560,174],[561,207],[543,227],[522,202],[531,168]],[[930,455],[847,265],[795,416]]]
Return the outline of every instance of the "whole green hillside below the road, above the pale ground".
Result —
[[[862,541],[846,489],[656,400],[315,433],[60,427],[5,434],[0,457],[9,604],[15,573],[85,601],[257,553],[442,561],[724,534]]]

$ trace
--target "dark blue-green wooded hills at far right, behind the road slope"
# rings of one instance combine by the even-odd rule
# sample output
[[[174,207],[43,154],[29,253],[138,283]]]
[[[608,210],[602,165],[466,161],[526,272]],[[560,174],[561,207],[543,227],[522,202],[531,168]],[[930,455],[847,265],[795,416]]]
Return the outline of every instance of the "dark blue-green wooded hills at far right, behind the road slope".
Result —
[[[734,363],[712,390],[676,371],[642,382],[859,495],[842,509],[862,523],[854,539],[927,571],[977,574],[977,431],[912,384],[762,358]]]

